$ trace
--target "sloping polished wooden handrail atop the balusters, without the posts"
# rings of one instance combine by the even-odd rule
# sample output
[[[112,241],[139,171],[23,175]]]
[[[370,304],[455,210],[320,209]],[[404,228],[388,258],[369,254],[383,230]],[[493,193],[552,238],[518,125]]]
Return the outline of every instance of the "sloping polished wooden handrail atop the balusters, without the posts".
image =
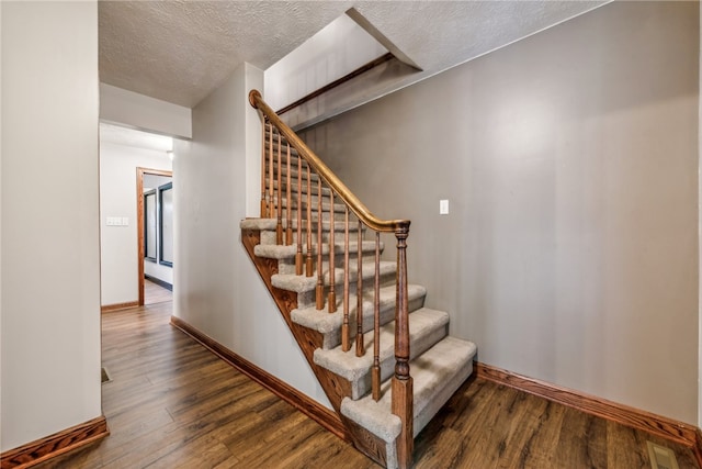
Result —
[[[297,150],[297,154],[305,158],[309,166],[317,171],[331,190],[349,205],[349,209],[351,209],[367,227],[383,233],[406,233],[409,231],[409,220],[381,220],[371,213],[367,206],[365,206],[363,202],[331,172],[331,169],[305,145],[297,134],[275,114],[265,101],[263,101],[258,90],[251,90],[251,92],[249,92],[249,103],[260,110],[263,115],[268,118],[269,122],[278,127],[279,132],[287,139],[292,147]]]

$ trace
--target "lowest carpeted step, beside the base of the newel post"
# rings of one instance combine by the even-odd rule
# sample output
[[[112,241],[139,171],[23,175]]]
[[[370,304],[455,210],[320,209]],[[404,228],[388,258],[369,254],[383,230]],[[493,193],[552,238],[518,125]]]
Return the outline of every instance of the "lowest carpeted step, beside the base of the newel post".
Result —
[[[410,361],[415,436],[471,376],[475,351],[475,344],[448,336]],[[399,418],[390,412],[390,384],[392,379],[383,383],[377,402],[370,394],[356,401],[344,398],[341,402],[344,416],[388,443],[394,442],[400,431]]]

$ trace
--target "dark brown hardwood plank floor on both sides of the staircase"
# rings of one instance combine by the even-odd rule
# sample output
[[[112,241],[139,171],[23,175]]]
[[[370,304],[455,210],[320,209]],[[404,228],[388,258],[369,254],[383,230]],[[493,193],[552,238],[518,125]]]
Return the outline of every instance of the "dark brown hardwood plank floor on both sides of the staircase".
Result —
[[[111,435],[38,468],[377,468],[169,325],[171,302],[104,314]],[[416,440],[416,468],[650,468],[646,433],[472,378]]]

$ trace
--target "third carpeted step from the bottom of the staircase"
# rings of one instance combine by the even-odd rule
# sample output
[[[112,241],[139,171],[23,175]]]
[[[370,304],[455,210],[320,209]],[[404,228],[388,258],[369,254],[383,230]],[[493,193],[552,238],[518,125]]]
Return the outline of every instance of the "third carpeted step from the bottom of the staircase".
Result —
[[[427,289],[420,284],[407,286],[408,310],[410,312],[419,310],[423,306]],[[343,299],[337,297],[337,301],[343,302]],[[395,287],[381,288],[381,324],[389,323],[395,319]],[[349,295],[349,324],[351,336],[355,337],[355,314],[356,314],[356,295]],[[373,328],[373,292],[367,292],[363,299],[363,331],[367,332]],[[330,349],[341,343],[341,325],[343,324],[343,305],[341,304],[336,313],[329,314],[327,306],[317,310],[315,305],[299,308],[291,312],[291,319],[294,323],[320,333],[324,336],[325,349]]]

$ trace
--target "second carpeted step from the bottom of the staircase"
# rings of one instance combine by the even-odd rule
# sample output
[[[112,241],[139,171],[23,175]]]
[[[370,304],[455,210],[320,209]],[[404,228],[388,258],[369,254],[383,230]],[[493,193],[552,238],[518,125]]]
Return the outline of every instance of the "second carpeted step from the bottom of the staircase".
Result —
[[[446,335],[449,313],[421,308],[409,316],[410,359],[415,358]],[[351,383],[351,399],[356,400],[371,390],[370,368],[373,366],[374,332],[364,334],[365,355],[355,356],[355,347],[343,351],[341,346],[330,350],[316,349],[315,364],[347,379]],[[395,321],[381,327],[378,353],[381,380],[389,378],[395,367]]]

